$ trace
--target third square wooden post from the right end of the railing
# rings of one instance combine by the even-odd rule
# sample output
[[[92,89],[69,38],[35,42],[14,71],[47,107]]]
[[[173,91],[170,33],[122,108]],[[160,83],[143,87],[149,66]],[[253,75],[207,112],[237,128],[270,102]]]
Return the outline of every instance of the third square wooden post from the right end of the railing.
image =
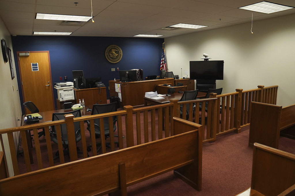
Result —
[[[209,98],[216,98],[217,93],[210,93]],[[216,133],[217,133],[217,123],[219,123],[219,112],[220,110],[220,103],[217,103],[217,100],[214,100],[212,102],[212,107],[211,107],[211,138],[214,138],[211,142],[216,141]],[[217,112],[218,111],[218,112]]]

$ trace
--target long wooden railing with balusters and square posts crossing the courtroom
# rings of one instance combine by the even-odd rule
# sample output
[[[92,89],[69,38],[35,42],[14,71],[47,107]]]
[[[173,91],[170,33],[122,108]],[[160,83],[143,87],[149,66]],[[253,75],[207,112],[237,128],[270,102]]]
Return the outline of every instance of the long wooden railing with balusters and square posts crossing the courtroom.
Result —
[[[262,101],[276,101],[278,86],[271,86],[263,88],[263,86],[258,86],[258,89],[243,91],[242,89],[236,89],[234,93],[227,93],[222,95],[216,95],[212,93],[208,99],[198,99],[190,101],[171,100],[171,103],[148,106],[142,108],[133,108],[133,106],[127,105],[124,106],[124,110],[82,116],[78,118],[73,118],[73,115],[66,116],[65,120],[58,120],[53,122],[46,123],[37,123],[33,125],[25,125],[21,127],[9,128],[0,130],[0,140],[3,146],[2,134],[8,135],[8,142],[10,148],[10,156],[12,158],[12,166],[14,170],[14,175],[19,175],[19,165],[17,161],[17,155],[15,153],[15,144],[13,139],[13,132],[20,131],[22,137],[22,148],[24,150],[24,160],[26,165],[27,172],[32,171],[31,160],[32,155],[29,153],[30,142],[27,140],[27,130],[33,130],[33,138],[35,147],[33,153],[36,153],[37,157],[37,167],[42,169],[44,167],[51,167],[59,163],[54,163],[53,160],[53,150],[52,145],[55,145],[50,140],[50,126],[66,124],[68,130],[68,140],[69,140],[69,161],[78,160],[77,155],[77,145],[74,134],[74,125],[73,123],[79,122],[81,129],[81,141],[78,142],[78,146],[82,146],[83,158],[87,156],[96,155],[96,138],[94,133],[94,119],[100,119],[101,130],[104,130],[104,120],[103,118],[109,118],[109,122],[112,122],[112,117],[117,116],[117,132],[118,138],[114,137],[114,132],[110,131],[110,146],[111,151],[116,150],[115,139],[118,140],[119,149],[132,147],[134,145],[140,145],[143,143],[148,143],[150,141],[159,140],[161,138],[167,138],[174,135],[173,128],[173,117],[181,117],[186,119],[186,112],[180,116],[180,106],[186,108],[186,105],[189,104],[189,117],[188,120],[191,122],[196,122],[203,125],[202,137],[203,142],[215,141],[216,135],[226,133],[228,131],[235,131],[236,133],[240,132],[241,125],[245,126],[244,122],[248,122],[249,115],[249,102],[251,100],[257,100],[258,102]],[[202,106],[207,105],[208,110],[205,111],[205,107],[199,111],[200,104]],[[194,106],[195,105],[195,106]],[[193,108],[196,108],[195,110]],[[194,112],[194,115],[193,115]],[[207,117],[206,117],[207,114]],[[133,119],[134,117],[134,119]],[[143,123],[142,119],[143,118]],[[246,119],[246,120],[245,120]],[[91,146],[92,154],[87,154],[87,140],[85,136],[84,122],[89,121],[90,126],[90,136],[91,136]],[[133,122],[134,121],[134,122]],[[243,123],[240,123],[243,122]],[[150,128],[149,128],[150,124]],[[157,127],[158,125],[158,127]],[[109,127],[112,127],[110,123]],[[68,160],[64,159],[63,156],[63,145],[60,134],[60,126],[56,126],[57,138],[58,138],[58,151],[60,155],[60,163],[65,163]],[[44,157],[44,153],[41,153],[40,142],[38,138],[38,129],[45,130],[45,140],[46,148],[42,146],[42,150],[47,151],[47,156]],[[84,130],[84,131],[83,131]],[[125,131],[125,132],[124,132]],[[136,131],[136,132],[135,132]],[[165,132],[163,132],[165,131]],[[158,132],[158,133],[157,133]],[[123,139],[123,135],[126,136],[126,139]],[[141,139],[141,136],[144,136],[144,139]],[[104,138],[104,132],[101,132],[100,138]],[[44,138],[43,138],[44,139]],[[106,153],[105,140],[100,139],[101,142],[101,153]],[[117,148],[118,149],[118,148]],[[4,149],[4,159],[5,159],[5,150]],[[43,155],[43,157],[42,157]],[[79,157],[82,158],[82,157]],[[46,164],[43,163],[46,162]],[[47,163],[48,162],[48,163]],[[35,163],[36,164],[36,163]],[[7,166],[7,164],[6,164]]]

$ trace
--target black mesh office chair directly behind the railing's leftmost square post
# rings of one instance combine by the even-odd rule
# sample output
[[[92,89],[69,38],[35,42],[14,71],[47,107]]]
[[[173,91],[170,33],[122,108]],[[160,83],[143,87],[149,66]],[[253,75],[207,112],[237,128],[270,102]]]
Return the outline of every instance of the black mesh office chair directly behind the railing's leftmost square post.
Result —
[[[65,114],[73,114],[74,118],[81,117],[81,110],[74,110],[74,111],[63,112],[63,113],[53,113],[52,114],[52,121],[64,120]],[[80,122],[74,123],[74,130],[75,130],[76,143],[77,143],[78,141],[81,140]],[[69,146],[68,146],[67,125],[65,123],[60,125],[60,133],[61,133],[61,140],[63,142],[63,148],[64,148],[63,155],[70,155],[69,150],[68,150]],[[50,134],[52,135],[51,140],[54,143],[58,144],[55,126],[51,126]],[[81,152],[80,149],[77,147],[77,153],[82,154],[83,152]],[[56,155],[56,157],[53,160],[59,158],[59,152],[57,151],[57,153],[55,155]]]

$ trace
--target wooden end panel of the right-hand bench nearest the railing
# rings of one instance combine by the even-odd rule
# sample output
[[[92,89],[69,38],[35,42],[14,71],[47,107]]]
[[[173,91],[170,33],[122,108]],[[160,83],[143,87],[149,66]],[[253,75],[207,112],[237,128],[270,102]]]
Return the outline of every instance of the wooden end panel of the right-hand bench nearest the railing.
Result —
[[[278,148],[282,106],[251,102],[249,146],[255,142]]]

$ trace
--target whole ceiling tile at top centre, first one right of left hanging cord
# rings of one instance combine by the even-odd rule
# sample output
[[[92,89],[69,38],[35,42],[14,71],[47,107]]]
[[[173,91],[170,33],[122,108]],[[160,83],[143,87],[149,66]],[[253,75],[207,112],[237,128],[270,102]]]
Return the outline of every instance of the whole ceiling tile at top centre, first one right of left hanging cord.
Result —
[[[140,4],[130,4],[130,3],[123,3],[123,2],[115,2],[114,4],[106,8],[106,10],[137,12],[137,13],[146,13],[146,14],[158,14],[167,9],[169,8],[140,5]]]

